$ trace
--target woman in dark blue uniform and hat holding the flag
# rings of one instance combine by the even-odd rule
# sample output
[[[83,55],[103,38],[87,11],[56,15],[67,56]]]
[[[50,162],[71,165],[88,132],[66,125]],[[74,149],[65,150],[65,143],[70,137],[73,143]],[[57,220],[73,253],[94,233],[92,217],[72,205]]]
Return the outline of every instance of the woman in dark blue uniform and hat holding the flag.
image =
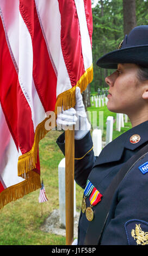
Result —
[[[78,224],[78,245],[85,244],[90,223],[99,220],[102,212],[93,215],[103,202],[103,195],[133,155],[148,144],[148,26],[132,29],[118,50],[97,60],[101,68],[114,69],[105,81],[109,87],[109,111],[124,113],[132,129],[126,131],[103,148],[96,157],[92,150],[90,124],[85,113],[82,95],[76,88],[76,106],[62,111],[57,125],[78,125],[75,130],[75,180],[84,188],[82,210]],[[65,153],[64,133],[57,143]],[[99,245],[148,244],[148,156],[134,164],[115,190],[107,221]],[[92,215],[91,215],[92,211]],[[99,211],[98,211],[99,212]],[[96,225],[97,229],[97,225]]]

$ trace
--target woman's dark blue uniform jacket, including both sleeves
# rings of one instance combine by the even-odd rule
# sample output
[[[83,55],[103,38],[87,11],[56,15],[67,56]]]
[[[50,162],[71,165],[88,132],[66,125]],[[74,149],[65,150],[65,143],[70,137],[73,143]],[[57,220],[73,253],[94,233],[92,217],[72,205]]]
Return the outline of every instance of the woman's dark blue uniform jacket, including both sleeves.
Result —
[[[140,141],[132,144],[129,140],[132,135],[139,135]],[[57,144],[63,154],[65,152],[64,139],[64,133],[57,139]],[[90,132],[83,139],[75,140],[75,180],[77,184],[85,188],[87,179],[89,179],[103,196],[122,164],[147,143],[148,121],[114,139],[103,148],[98,157],[94,156],[92,150]],[[140,168],[141,166],[143,169]],[[89,197],[87,206],[90,206]],[[95,216],[95,218],[99,218],[99,216]],[[89,221],[85,217],[85,213],[83,214],[81,211],[78,225],[78,245],[84,244],[88,225]],[[135,164],[116,188],[100,244],[148,244],[147,155]]]

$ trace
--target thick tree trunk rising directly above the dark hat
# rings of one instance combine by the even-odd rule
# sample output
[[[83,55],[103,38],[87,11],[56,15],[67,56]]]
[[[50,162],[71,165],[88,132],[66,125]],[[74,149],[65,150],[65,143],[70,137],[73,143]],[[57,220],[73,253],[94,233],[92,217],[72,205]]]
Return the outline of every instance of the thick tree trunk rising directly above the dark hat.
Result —
[[[124,34],[136,27],[135,0],[123,0]]]

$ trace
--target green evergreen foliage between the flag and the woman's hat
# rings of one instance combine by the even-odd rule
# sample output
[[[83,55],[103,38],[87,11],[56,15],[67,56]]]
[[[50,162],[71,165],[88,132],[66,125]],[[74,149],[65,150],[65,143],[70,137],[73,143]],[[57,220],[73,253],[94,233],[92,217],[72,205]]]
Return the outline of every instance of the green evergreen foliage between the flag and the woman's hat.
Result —
[[[148,0],[135,0],[135,4],[137,26],[148,25]],[[113,72],[99,68],[96,61],[103,54],[116,50],[124,39],[123,0],[98,0],[94,8],[92,5],[92,19],[94,79],[91,83],[91,93],[97,92],[98,88],[107,88],[104,79]]]

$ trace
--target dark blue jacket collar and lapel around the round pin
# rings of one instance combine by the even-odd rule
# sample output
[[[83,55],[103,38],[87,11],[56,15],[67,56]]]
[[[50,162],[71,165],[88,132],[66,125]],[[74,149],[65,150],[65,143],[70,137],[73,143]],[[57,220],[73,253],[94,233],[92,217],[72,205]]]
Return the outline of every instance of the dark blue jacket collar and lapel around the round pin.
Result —
[[[130,138],[132,135],[139,135],[140,141],[138,143],[132,144]],[[140,147],[143,143],[148,141],[148,121],[141,123],[132,129],[124,132],[114,141],[104,147],[97,157],[94,167],[98,164],[109,163],[114,161],[119,161],[121,159],[124,149],[134,150]]]

